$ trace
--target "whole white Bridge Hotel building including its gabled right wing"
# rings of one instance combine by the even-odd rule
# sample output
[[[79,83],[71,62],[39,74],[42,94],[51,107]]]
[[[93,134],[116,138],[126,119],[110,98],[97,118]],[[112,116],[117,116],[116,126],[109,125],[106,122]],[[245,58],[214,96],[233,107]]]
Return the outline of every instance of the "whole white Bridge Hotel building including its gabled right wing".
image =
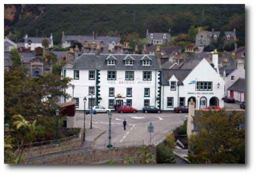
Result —
[[[114,108],[124,103],[138,110],[145,105],[174,110],[187,106],[190,98],[197,109],[224,107],[224,80],[206,59],[193,69],[161,69],[160,62],[154,54],[84,53],[66,64],[62,75],[73,78],[74,90],[69,87],[66,92],[76,100],[77,110],[84,110],[85,96],[86,110],[97,104]],[[212,62],[217,67],[217,53]]]

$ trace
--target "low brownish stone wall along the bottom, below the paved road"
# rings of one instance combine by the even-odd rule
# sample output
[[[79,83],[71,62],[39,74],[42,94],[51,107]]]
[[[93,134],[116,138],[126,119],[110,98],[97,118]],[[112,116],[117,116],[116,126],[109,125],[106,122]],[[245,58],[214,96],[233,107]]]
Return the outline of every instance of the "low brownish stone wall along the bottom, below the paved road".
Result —
[[[95,164],[103,163],[106,160],[117,160],[121,162],[126,157],[136,157],[136,152],[140,146],[112,148],[112,149],[95,149],[87,152],[66,153],[59,157],[33,160],[33,164]],[[148,146],[149,152],[155,155],[155,146]]]

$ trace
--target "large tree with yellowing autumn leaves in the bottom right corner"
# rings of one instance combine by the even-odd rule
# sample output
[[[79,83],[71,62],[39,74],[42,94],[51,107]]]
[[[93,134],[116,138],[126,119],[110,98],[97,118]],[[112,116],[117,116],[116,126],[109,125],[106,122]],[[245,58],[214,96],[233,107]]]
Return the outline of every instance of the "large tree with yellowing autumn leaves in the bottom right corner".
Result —
[[[198,133],[189,137],[192,163],[245,163],[245,123],[242,112],[204,111],[194,116]]]

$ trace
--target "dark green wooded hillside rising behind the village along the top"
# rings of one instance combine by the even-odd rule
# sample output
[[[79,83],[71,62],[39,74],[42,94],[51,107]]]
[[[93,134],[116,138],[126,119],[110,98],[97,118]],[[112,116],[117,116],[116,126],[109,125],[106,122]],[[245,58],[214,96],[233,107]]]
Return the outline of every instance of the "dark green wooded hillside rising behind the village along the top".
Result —
[[[53,33],[59,43],[65,34],[121,35],[146,29],[187,33],[191,25],[215,30],[234,27],[244,42],[245,9],[243,4],[5,4],[5,35],[21,41],[30,36]]]

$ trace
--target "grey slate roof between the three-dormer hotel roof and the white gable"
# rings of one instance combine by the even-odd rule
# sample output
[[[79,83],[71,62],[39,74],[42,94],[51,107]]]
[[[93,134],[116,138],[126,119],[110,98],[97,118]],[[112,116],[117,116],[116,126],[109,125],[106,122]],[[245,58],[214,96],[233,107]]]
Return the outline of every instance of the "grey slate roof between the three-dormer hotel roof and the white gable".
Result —
[[[169,79],[174,75],[178,79],[178,85],[183,85],[183,80],[191,72],[191,69],[162,69],[162,85],[170,85]]]

